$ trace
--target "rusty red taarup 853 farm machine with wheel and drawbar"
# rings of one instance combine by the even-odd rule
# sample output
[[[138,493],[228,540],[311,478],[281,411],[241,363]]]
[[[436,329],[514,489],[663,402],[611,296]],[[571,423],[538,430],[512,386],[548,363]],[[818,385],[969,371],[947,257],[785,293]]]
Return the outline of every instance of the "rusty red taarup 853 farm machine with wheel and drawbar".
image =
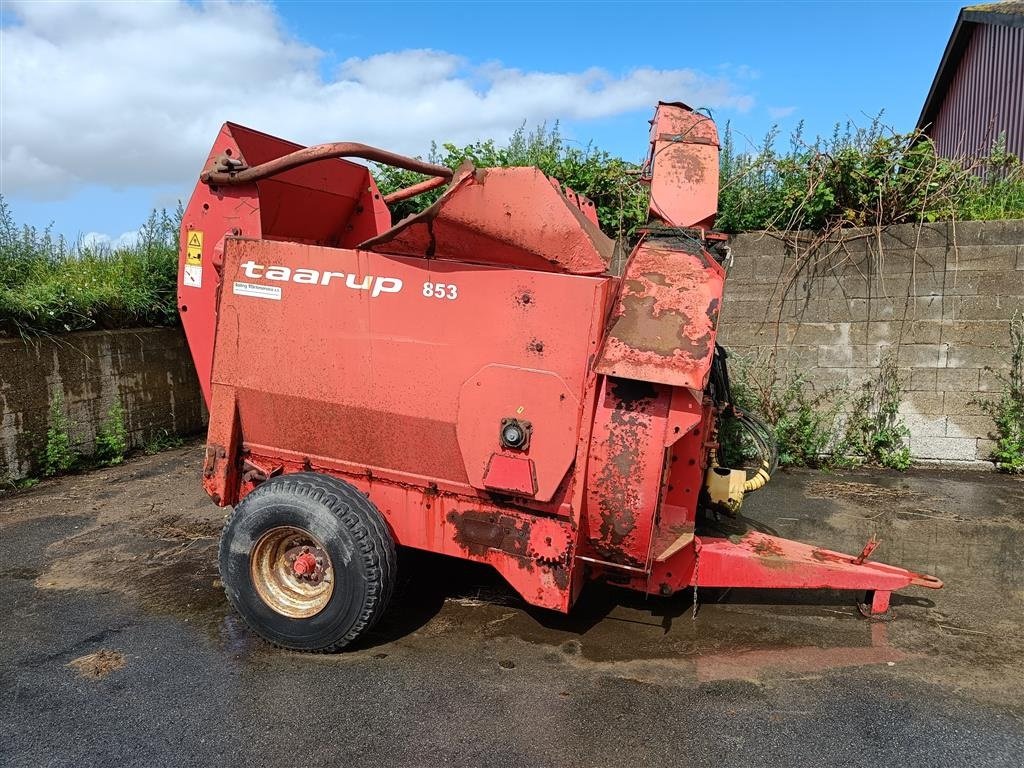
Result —
[[[728,248],[718,133],[659,103],[650,221],[622,274],[594,205],[535,168],[302,147],[227,123],[182,223],[181,319],[210,411],[203,482],[233,506],[231,604],[336,649],[385,610],[395,546],[487,563],[567,611],[593,579],[656,595],[830,588],[888,609],[938,580],[758,531],[706,535],[767,481],[716,344]],[[359,158],[428,180],[383,196]],[[388,206],[446,185],[392,224]],[[765,461],[719,466],[735,418]]]

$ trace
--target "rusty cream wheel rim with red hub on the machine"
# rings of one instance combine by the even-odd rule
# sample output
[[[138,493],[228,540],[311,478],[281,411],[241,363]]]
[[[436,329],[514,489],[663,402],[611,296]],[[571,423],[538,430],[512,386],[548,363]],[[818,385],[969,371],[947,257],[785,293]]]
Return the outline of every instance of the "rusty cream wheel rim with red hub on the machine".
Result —
[[[292,525],[270,528],[252,549],[253,586],[274,611],[309,618],[334,594],[334,567],[324,545],[308,530]]]

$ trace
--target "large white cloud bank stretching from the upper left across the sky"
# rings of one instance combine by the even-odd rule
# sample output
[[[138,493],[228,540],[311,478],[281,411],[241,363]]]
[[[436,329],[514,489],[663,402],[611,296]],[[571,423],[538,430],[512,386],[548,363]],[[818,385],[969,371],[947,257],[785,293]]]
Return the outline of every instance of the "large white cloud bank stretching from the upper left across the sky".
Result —
[[[745,112],[724,76],[689,69],[535,72],[435,50],[345,60],[289,36],[259,3],[8,2],[0,30],[4,195],[85,184],[190,187],[225,120],[303,143],[422,153],[505,138],[523,121],[590,120],[679,99]]]

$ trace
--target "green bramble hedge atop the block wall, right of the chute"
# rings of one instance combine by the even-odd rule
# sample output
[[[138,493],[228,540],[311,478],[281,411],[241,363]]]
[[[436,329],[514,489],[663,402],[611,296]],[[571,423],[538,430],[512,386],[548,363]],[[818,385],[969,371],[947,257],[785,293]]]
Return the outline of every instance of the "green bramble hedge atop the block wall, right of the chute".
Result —
[[[798,127],[785,151],[777,138],[773,130],[758,150],[741,153],[726,126],[719,229],[821,231],[1024,217],[1024,171],[1005,138],[966,164],[939,157],[921,132],[894,132],[881,116],[867,128],[837,124],[830,137],[810,143]]]

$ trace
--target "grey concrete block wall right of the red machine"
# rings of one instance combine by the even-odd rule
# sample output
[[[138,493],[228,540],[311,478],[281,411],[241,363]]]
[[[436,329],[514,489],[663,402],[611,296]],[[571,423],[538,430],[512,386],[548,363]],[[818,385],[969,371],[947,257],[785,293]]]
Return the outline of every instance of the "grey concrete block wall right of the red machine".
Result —
[[[809,240],[732,240],[722,343],[751,359],[774,351],[815,388],[851,392],[893,355],[912,456],[987,462],[993,424],[976,400],[1009,370],[1024,220],[849,229],[813,252]]]

